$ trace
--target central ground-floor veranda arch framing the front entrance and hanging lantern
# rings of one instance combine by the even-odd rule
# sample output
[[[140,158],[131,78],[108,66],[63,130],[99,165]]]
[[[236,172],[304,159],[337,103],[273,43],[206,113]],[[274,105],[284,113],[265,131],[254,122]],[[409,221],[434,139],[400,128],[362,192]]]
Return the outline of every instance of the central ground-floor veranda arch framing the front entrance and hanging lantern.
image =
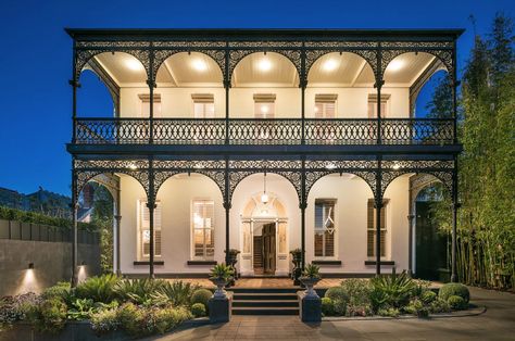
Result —
[[[239,271],[243,276],[288,275],[289,251],[300,248],[298,207],[297,191],[281,175],[252,174],[237,185],[230,243],[241,251]]]

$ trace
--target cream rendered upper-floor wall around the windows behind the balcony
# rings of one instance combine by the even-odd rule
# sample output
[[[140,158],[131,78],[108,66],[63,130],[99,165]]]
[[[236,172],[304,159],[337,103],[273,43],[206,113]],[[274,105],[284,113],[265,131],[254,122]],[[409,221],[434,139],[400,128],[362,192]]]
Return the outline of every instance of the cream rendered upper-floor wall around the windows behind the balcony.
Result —
[[[390,94],[389,117],[410,116],[410,89],[382,87],[382,94]],[[212,93],[215,117],[225,117],[224,88],[156,88],[161,93],[162,117],[193,117],[192,93]],[[149,93],[148,88],[122,88],[121,113],[123,117],[140,117],[140,93]],[[275,117],[301,117],[301,90],[299,88],[231,88],[229,90],[229,113],[231,117],[254,117],[254,93],[275,93]],[[368,94],[376,94],[374,88],[306,88],[305,114],[314,117],[315,94],[337,93],[337,117],[366,118]],[[156,115],[158,116],[158,115]]]

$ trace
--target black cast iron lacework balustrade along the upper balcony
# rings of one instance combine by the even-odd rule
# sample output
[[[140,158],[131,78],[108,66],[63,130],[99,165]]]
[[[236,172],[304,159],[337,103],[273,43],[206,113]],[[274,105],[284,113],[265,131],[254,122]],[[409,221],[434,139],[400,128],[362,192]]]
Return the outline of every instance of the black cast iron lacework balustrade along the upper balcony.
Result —
[[[384,144],[452,144],[452,118],[382,118]],[[224,118],[155,118],[155,144],[224,144]],[[301,144],[300,118],[230,118],[229,144]],[[77,144],[146,144],[149,118],[77,118]],[[377,119],[307,118],[305,143],[376,144]]]

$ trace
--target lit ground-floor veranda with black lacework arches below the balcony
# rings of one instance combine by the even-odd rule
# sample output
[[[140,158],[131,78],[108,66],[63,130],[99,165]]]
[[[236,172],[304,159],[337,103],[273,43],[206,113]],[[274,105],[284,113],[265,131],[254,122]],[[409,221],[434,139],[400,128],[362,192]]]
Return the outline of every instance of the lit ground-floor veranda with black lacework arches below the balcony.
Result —
[[[412,270],[413,200],[435,180],[453,191],[455,169],[453,161],[427,160],[178,165],[142,160],[74,164],[75,198],[87,181],[97,180],[111,188],[116,201],[117,273],[206,277],[214,264],[226,261],[226,250],[237,249],[240,275],[288,276],[289,252],[297,248],[304,251],[303,263],[321,265],[325,277],[370,276],[389,273],[393,266],[398,271]],[[332,206],[321,210],[321,201]],[[209,217],[197,216],[198,202],[211,204],[203,207],[204,213],[211,210]],[[197,220],[202,222],[201,231]],[[379,229],[374,223],[378,220]],[[266,225],[271,229],[265,230]],[[265,235],[272,238],[266,241]],[[258,236],[263,238],[261,245]],[[269,244],[267,252],[264,243]],[[256,266],[256,249],[268,266]]]

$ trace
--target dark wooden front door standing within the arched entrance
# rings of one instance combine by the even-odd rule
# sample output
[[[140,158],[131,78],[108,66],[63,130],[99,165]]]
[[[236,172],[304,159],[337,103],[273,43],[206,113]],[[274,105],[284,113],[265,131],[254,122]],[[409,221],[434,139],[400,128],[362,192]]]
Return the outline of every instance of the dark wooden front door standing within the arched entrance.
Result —
[[[261,236],[254,236],[254,274],[275,275],[275,223],[263,225]]]

